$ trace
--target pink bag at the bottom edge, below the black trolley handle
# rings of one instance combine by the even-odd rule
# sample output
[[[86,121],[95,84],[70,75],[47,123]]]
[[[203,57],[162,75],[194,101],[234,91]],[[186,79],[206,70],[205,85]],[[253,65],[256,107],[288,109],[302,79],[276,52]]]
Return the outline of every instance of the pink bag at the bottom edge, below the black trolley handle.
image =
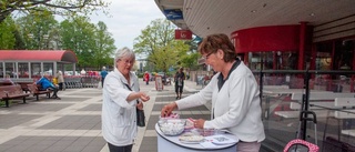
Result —
[[[320,151],[318,145],[315,145],[311,142],[307,142],[301,139],[290,141],[284,149],[284,152],[318,152],[318,151]]]

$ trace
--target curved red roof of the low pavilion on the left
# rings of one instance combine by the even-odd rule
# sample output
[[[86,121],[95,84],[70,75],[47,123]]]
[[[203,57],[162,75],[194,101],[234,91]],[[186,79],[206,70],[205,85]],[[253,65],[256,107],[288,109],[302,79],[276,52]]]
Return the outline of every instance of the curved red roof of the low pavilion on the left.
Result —
[[[77,63],[70,50],[0,50],[0,61],[57,61]]]

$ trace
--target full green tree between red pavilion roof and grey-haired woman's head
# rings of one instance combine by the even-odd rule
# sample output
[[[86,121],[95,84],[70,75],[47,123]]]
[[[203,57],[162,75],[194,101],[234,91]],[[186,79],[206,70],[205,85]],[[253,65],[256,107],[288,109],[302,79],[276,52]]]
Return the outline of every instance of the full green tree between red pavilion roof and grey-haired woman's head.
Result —
[[[60,23],[61,44],[75,52],[80,68],[112,64],[114,39],[103,22],[97,26],[87,17],[73,17]]]

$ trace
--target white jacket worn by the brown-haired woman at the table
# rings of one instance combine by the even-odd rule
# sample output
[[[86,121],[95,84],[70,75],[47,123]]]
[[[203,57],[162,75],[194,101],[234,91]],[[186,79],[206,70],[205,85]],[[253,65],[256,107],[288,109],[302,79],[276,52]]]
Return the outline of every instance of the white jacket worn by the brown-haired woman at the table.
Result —
[[[179,110],[202,105],[212,100],[211,118],[204,128],[227,129],[241,141],[261,142],[265,139],[261,120],[258,85],[252,71],[241,62],[224,82],[221,91],[216,73],[199,93],[176,101]],[[199,119],[199,118],[194,118]]]

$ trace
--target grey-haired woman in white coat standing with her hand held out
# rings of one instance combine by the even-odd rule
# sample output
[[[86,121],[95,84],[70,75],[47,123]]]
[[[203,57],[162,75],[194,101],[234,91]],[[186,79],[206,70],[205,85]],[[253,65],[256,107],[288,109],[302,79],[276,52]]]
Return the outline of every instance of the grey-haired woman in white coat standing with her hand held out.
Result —
[[[131,72],[134,52],[128,48],[115,54],[115,68],[104,80],[102,91],[102,135],[110,152],[131,152],[136,136],[136,108],[150,100],[140,91],[138,77]],[[132,91],[131,91],[132,90]],[[136,100],[140,102],[136,103]]]

